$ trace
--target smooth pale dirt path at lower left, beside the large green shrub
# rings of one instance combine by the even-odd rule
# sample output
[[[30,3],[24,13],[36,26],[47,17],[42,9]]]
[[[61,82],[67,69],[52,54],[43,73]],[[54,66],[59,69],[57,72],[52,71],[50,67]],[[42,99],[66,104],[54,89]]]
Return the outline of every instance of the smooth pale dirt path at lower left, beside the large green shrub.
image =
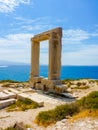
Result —
[[[33,126],[33,121],[34,121],[36,115],[40,111],[49,110],[52,108],[54,108],[53,105],[47,104],[42,108],[27,110],[24,112],[23,111],[6,112],[6,110],[1,110],[0,111],[0,128],[7,128],[11,125],[14,125],[16,122],[23,122],[24,124]]]

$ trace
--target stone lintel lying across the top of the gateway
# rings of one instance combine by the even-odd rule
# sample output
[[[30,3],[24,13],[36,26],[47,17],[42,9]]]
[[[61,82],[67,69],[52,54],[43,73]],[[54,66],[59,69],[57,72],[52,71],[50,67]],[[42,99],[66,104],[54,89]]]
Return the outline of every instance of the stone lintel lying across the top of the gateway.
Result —
[[[62,37],[62,28],[58,27],[58,28],[55,28],[53,30],[49,30],[49,31],[40,33],[38,35],[34,35],[34,37],[31,38],[31,41],[44,41],[44,40],[48,40],[52,33],[55,33],[57,35],[60,35],[60,37]]]

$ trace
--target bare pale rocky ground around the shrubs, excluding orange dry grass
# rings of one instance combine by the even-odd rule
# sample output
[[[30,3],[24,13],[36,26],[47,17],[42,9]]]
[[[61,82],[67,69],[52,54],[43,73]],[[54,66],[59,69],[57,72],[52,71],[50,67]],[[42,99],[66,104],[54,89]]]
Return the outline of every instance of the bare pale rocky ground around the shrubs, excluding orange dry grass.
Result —
[[[4,89],[14,88],[14,90],[16,91],[18,90],[19,93],[23,91],[24,93],[28,93],[27,90],[29,90],[28,83],[27,84],[25,83],[25,85],[14,83],[11,84],[11,86],[8,86],[8,88],[5,88],[4,84],[1,83],[0,86],[2,85],[3,87],[0,88],[0,91],[3,91]],[[86,96],[91,91],[98,91],[98,82],[88,79],[82,79],[70,82],[65,81],[65,85],[67,91],[70,92],[70,94],[76,97],[77,99]],[[32,130],[98,130],[98,118],[90,118],[90,117],[81,118],[74,122],[70,122],[70,119],[64,119],[62,121],[58,121],[56,124],[48,126],[47,128],[38,126],[37,124],[34,123],[34,119],[40,111],[52,109],[55,106],[66,102],[67,103],[72,102],[73,99],[52,97],[41,93],[37,93],[36,98],[39,98],[39,100],[42,100],[44,102],[43,107],[33,110],[13,111],[13,112],[7,112],[6,109],[1,109],[0,129],[11,126],[16,122],[23,122],[25,125],[30,126]]]

